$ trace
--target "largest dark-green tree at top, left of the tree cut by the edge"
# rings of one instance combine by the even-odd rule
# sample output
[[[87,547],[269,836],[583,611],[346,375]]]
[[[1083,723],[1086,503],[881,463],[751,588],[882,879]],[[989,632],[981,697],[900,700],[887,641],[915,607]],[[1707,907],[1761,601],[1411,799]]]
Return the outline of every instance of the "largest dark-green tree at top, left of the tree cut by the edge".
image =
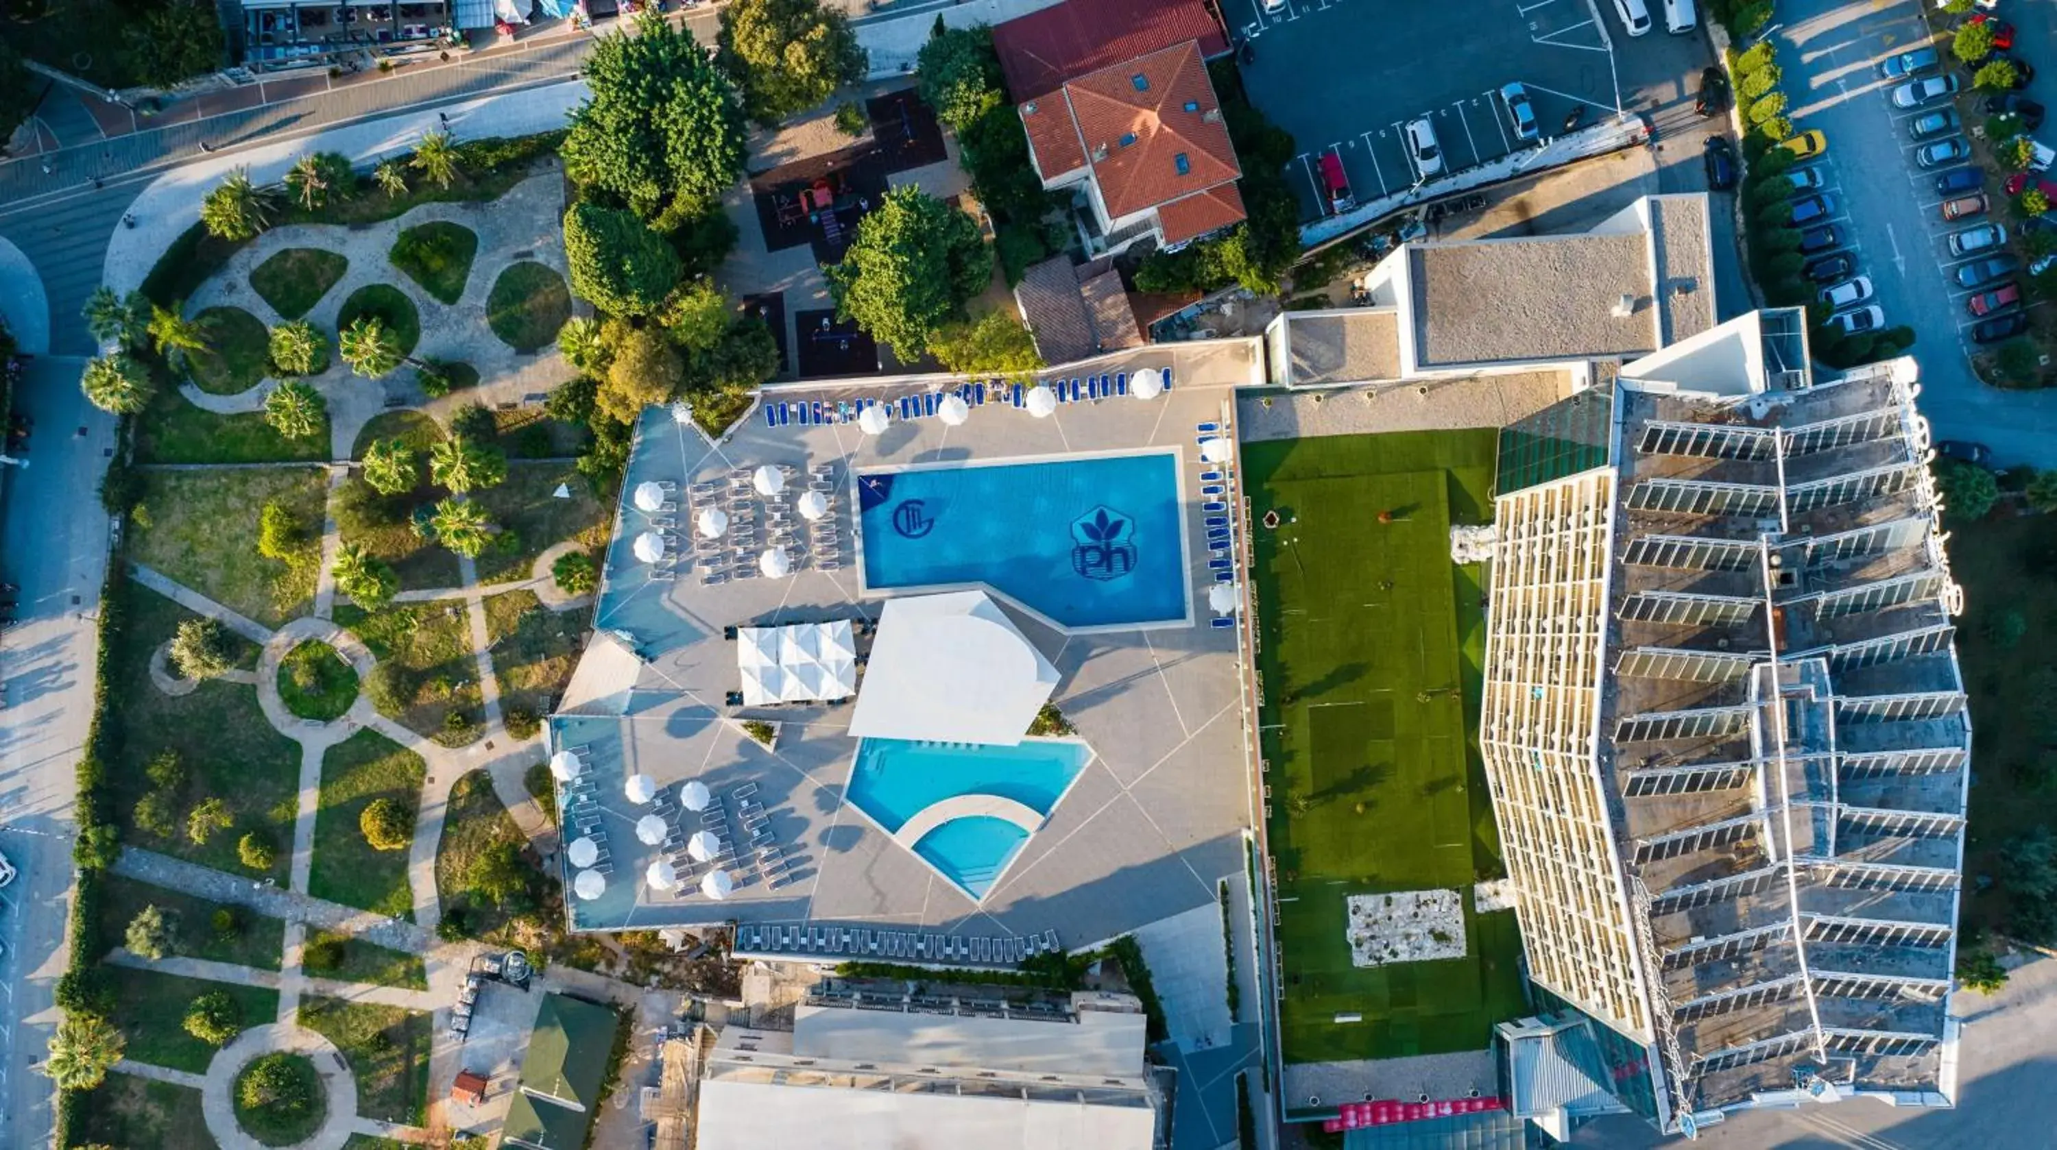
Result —
[[[673,197],[710,204],[743,171],[743,105],[693,33],[654,8],[603,35],[584,66],[564,169],[654,218]]]

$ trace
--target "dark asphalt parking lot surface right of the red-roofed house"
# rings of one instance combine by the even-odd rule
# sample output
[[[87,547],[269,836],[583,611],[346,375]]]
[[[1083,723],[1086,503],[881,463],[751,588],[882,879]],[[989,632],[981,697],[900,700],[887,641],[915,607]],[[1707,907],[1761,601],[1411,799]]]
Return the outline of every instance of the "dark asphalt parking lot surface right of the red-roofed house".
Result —
[[[1403,191],[1417,173],[1401,144],[1409,119],[1430,117],[1444,175],[1512,152],[1500,88],[1520,80],[1543,136],[1574,109],[1586,121],[1621,105],[1611,27],[1592,0],[1222,0],[1228,27],[1249,39],[1251,101],[1300,144],[1294,187],[1302,218],[1321,214],[1316,165],[1335,150],[1358,202]],[[1662,37],[1662,31],[1658,33]]]

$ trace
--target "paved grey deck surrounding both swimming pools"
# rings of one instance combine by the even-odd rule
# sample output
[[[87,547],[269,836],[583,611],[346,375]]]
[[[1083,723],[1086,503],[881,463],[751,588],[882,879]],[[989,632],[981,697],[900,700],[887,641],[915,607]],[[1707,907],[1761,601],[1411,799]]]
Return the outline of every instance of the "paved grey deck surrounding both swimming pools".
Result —
[[[1177,362],[1177,387],[1160,399],[1107,399],[1059,407],[1049,420],[987,403],[957,428],[940,420],[893,424],[864,436],[854,424],[767,428],[751,414],[728,438],[712,444],[666,409],[650,409],[629,459],[623,496],[646,479],[679,486],[726,477],[738,467],[782,463],[804,475],[833,463],[841,486],[852,469],[1006,461],[1074,453],[1175,446],[1185,490],[1199,471],[1195,424],[1222,420],[1232,387],[1251,383],[1249,344],[1158,346],[1127,356],[1078,364],[1084,370],[1133,372]],[[930,385],[866,381],[854,387],[796,385],[771,399],[893,397]],[[1197,498],[1183,508],[1191,539],[1201,539]],[[646,664],[627,714],[568,714],[551,720],[557,745],[586,747],[613,852],[609,889],[594,901],[572,901],[574,926],[623,930],[743,924],[847,924],[924,928],[934,932],[1024,936],[1055,930],[1066,946],[1086,946],[1148,922],[1214,903],[1216,883],[1244,868],[1249,774],[1242,710],[1236,687],[1236,630],[1199,625],[1061,634],[1002,601],[1022,632],[1061,673],[1055,702],[1094,759],[1072,784],[1041,829],[1031,835],[1006,874],[975,903],[936,874],[911,850],[843,802],[858,741],[847,734],[852,706],[728,708],[738,689],[728,625],[778,625],[833,617],[876,619],[880,595],[864,595],[852,558],[856,508],[837,498],[843,570],[802,566],[790,578],[701,584],[681,568],[677,582],[656,582],[629,545],[646,527],[623,502],[607,555],[597,627],[631,636]],[[685,523],[683,504],[679,514]],[[1193,603],[1205,615],[1210,582],[1205,549],[1191,547],[1187,576]],[[860,683],[862,689],[862,683]],[[975,689],[975,685],[967,685]],[[944,702],[946,706],[946,702]],[[741,720],[780,724],[765,749]],[[726,802],[738,823],[732,792],[755,784],[769,813],[773,839],[794,858],[794,881],[771,889],[755,874],[732,870],[736,891],[722,901],[689,889],[679,897],[642,883],[660,848],[636,841],[634,823],[646,808],[627,802],[627,774],[648,774],[658,786],[697,778]],[[695,827],[691,815],[681,825]],[[697,881],[697,874],[693,876]]]

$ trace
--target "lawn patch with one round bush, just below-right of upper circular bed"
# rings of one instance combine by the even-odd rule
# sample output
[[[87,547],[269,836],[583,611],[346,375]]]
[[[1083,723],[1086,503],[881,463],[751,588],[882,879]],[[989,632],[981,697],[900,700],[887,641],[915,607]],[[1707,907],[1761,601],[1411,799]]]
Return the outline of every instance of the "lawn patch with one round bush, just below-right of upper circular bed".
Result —
[[[360,730],[329,747],[321,761],[311,895],[387,915],[413,918],[407,852],[372,850],[364,841],[364,831],[358,829],[358,815],[374,798],[399,800],[411,815],[422,798],[426,776],[428,767],[422,763],[422,755],[376,730]]]

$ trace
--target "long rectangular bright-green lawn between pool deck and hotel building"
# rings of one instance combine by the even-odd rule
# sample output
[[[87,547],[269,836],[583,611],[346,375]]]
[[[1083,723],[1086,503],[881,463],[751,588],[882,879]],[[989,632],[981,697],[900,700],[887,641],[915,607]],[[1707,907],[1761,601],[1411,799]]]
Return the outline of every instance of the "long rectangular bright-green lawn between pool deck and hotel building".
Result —
[[[1286,1062],[1485,1049],[1524,1010],[1479,722],[1485,611],[1450,523],[1489,516],[1493,430],[1325,436],[1244,448],[1263,644],[1269,843],[1279,872]],[[1393,512],[1393,523],[1378,523]],[[1345,897],[1465,893],[1469,955],[1351,965]],[[1362,1022],[1335,1022],[1362,1012]]]

